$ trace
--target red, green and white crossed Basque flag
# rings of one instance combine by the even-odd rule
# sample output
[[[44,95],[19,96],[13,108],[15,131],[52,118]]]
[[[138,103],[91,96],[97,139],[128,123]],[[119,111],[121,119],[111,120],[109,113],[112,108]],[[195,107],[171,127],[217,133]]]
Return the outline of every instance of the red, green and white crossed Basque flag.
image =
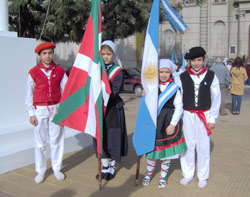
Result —
[[[100,57],[101,1],[91,2],[91,13],[82,43],[53,122],[95,137],[97,151],[101,153],[103,109],[111,90],[105,65]]]

